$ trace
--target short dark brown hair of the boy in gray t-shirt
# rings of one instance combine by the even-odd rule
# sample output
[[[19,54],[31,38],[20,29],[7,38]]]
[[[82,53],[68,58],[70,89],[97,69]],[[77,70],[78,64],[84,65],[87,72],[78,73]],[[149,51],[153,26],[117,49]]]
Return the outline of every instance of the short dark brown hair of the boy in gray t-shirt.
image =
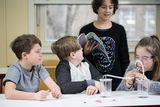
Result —
[[[22,53],[26,52],[29,54],[35,44],[42,46],[41,41],[35,35],[23,34],[12,41],[10,47],[20,60],[22,59]]]

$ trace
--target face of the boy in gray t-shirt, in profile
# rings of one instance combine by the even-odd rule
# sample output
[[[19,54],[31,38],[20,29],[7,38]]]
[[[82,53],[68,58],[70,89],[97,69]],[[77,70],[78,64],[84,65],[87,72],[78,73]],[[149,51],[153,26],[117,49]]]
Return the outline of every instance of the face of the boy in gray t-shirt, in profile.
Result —
[[[39,44],[35,44],[30,53],[27,54],[28,62],[31,65],[39,65],[41,62],[41,57],[42,57],[41,47]]]

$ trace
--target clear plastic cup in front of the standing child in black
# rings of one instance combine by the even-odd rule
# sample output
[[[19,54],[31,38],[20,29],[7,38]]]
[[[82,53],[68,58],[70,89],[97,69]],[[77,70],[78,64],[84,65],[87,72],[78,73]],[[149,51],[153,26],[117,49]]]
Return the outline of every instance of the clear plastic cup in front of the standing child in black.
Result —
[[[100,96],[102,98],[111,97],[112,79],[100,79]]]

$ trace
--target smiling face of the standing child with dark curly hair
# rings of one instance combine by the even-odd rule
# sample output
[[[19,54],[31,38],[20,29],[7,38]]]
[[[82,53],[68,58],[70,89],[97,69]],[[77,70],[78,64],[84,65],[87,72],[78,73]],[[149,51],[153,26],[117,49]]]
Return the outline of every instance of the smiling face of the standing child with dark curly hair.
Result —
[[[103,0],[102,5],[98,8],[98,18],[107,21],[113,14],[114,4],[111,4],[111,0]]]

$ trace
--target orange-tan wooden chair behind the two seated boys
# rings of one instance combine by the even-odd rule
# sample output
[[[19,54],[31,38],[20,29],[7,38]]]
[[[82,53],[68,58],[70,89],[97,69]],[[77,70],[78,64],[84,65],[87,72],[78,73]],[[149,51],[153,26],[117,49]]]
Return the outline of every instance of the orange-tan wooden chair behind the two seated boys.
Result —
[[[42,61],[42,65],[45,67],[45,69],[48,71],[50,74],[51,78],[56,81],[55,77],[55,70],[56,66],[58,65],[59,60],[44,60]],[[39,84],[39,90],[48,90],[48,87],[44,84],[44,82],[40,79],[40,84]]]

